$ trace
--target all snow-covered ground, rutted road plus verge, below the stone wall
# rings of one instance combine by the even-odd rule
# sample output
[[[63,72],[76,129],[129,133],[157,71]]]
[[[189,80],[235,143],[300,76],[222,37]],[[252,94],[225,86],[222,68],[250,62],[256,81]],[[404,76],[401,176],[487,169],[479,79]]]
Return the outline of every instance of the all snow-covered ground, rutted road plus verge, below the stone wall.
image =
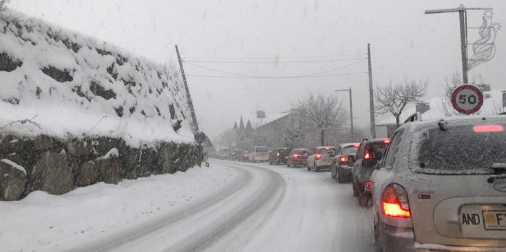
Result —
[[[0,203],[7,251],[372,251],[372,218],[329,172],[211,168]]]

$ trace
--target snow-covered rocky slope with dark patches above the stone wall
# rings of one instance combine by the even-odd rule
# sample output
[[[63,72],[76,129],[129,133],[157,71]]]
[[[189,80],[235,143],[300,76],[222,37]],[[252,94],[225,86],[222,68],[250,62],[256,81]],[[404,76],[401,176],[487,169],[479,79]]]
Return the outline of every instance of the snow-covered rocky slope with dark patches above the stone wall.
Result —
[[[178,69],[13,10],[0,14],[0,80],[0,127],[33,122],[0,132],[193,141]]]

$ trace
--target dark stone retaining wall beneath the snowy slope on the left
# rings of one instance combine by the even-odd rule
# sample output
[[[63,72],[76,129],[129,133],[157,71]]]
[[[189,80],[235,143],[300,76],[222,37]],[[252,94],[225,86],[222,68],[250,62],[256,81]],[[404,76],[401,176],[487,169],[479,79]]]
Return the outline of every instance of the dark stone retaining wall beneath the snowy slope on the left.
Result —
[[[0,133],[0,200],[17,201],[42,190],[65,194],[98,182],[117,184],[200,165],[197,146],[155,142],[131,148],[123,139]]]

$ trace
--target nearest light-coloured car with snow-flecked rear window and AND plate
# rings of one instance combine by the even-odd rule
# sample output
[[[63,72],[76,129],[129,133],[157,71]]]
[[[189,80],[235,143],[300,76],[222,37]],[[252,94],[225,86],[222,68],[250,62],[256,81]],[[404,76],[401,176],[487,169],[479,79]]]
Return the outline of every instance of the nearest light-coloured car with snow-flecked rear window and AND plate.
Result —
[[[483,115],[398,128],[372,174],[380,250],[506,251],[505,130]]]

